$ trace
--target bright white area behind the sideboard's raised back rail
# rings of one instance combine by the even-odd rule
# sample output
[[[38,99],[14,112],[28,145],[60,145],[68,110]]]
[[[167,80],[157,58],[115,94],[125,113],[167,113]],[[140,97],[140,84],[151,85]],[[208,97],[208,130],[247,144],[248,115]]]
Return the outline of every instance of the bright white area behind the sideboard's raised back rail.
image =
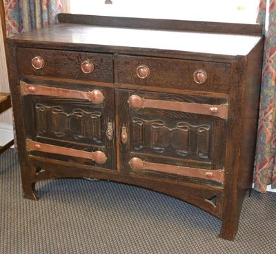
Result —
[[[259,0],[68,0],[70,12],[119,17],[255,23]]]

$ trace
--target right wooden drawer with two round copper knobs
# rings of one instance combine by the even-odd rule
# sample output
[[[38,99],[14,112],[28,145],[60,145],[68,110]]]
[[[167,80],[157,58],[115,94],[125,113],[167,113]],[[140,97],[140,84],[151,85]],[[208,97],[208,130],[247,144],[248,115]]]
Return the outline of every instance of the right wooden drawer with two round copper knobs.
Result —
[[[148,67],[148,77],[138,76],[139,66],[145,76]],[[115,82],[121,84],[208,92],[228,92],[230,86],[230,64],[215,62],[117,55],[115,73]]]

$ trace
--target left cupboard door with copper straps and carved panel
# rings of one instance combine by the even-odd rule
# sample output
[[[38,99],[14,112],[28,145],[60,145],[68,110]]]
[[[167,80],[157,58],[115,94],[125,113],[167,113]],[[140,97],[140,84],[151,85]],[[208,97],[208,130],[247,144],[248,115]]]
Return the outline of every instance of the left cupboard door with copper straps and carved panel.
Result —
[[[115,169],[113,88],[21,81],[30,155]]]

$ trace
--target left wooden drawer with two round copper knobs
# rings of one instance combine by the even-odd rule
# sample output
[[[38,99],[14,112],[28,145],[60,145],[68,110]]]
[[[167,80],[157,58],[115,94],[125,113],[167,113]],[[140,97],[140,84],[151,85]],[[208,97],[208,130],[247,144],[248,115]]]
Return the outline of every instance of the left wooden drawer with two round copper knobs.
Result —
[[[34,57],[40,59],[35,63]],[[91,72],[83,72],[81,66],[86,72],[91,67]],[[108,54],[17,48],[17,67],[21,77],[31,75],[113,83],[113,57]]]

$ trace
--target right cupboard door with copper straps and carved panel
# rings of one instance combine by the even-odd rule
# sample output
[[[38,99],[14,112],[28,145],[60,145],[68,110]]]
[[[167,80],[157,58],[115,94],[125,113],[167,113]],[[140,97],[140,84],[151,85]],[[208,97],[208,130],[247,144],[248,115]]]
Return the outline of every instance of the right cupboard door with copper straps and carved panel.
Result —
[[[117,90],[120,170],[224,182],[226,99]]]

